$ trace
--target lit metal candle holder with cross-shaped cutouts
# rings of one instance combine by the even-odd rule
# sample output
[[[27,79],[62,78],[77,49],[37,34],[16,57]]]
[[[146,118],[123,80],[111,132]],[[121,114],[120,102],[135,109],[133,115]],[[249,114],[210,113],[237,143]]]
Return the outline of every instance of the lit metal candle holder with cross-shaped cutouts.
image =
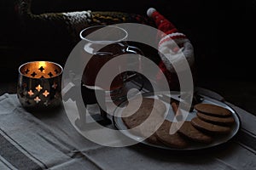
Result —
[[[61,104],[62,67],[50,61],[20,65],[17,95],[26,109],[53,108]]]

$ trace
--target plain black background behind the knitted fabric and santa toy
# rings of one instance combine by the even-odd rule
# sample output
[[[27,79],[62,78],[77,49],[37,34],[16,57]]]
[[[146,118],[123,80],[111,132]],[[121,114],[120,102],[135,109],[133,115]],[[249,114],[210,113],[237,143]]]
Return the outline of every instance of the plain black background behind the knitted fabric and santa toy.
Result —
[[[26,59],[15,0],[0,0],[0,72],[14,81]],[[121,11],[146,15],[149,7],[189,37],[195,48],[198,84],[248,111],[256,100],[256,0],[33,0],[32,12]],[[8,81],[8,79],[5,79]],[[254,100],[253,100],[254,99]]]

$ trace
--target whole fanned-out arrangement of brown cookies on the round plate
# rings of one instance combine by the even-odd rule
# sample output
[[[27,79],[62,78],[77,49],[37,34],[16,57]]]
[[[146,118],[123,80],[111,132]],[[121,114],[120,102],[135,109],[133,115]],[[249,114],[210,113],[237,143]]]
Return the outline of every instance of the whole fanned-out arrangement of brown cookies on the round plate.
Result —
[[[131,102],[135,104],[137,100]],[[146,139],[149,143],[180,149],[191,144],[211,144],[221,134],[230,133],[235,122],[230,110],[212,104],[195,105],[195,110],[196,116],[179,126],[178,122],[165,120],[166,105],[162,101],[143,98],[141,106],[134,114],[131,114],[132,107],[125,108],[122,120],[128,129],[138,127],[135,128],[137,135],[145,138],[149,136]],[[146,125],[140,126],[144,121],[147,121]],[[171,127],[177,127],[177,132],[171,133]]]

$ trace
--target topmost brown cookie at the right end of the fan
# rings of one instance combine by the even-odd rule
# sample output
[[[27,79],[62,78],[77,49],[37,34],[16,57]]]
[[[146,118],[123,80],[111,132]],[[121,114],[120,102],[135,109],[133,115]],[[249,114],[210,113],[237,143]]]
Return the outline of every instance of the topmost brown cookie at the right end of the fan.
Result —
[[[224,107],[219,105],[212,104],[197,104],[194,106],[196,111],[200,111],[201,113],[205,113],[210,116],[231,116],[232,112]]]

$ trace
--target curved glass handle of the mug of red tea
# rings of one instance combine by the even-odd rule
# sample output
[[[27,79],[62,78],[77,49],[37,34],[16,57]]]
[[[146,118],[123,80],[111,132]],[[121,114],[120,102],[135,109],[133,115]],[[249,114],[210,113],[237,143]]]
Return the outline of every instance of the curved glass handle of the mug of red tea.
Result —
[[[126,53],[127,54],[139,54],[139,55],[144,55],[143,54],[143,51],[140,49],[140,48],[137,48],[137,47],[134,47],[134,46],[128,46],[127,49],[126,49]],[[140,63],[141,60],[138,59],[138,70],[139,71],[142,71],[142,64]],[[136,71],[130,71],[130,73],[126,74],[125,75],[125,80],[124,82],[135,82],[137,87],[138,87],[138,90],[141,91],[144,87],[144,82],[143,82],[143,77],[141,74],[139,74],[138,72]]]

